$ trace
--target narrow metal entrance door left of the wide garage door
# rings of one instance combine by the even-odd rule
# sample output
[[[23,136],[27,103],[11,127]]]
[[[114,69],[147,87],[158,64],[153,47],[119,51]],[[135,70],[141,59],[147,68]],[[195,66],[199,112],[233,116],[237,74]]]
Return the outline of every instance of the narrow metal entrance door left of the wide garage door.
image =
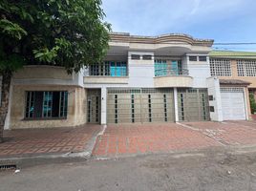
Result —
[[[87,122],[100,122],[101,92],[98,89],[90,89],[87,92]]]

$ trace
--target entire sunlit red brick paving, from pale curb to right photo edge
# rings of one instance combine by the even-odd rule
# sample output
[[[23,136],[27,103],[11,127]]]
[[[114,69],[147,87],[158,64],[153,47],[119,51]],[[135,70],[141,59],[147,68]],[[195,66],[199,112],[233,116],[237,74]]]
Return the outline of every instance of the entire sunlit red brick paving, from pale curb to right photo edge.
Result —
[[[95,157],[123,157],[256,144],[256,121],[108,125],[96,140]]]

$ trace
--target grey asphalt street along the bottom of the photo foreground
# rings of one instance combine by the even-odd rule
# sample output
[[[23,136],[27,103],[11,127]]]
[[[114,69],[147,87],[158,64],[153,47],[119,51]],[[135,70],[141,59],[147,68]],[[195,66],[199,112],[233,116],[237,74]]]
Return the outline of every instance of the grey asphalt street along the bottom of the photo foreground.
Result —
[[[0,171],[0,190],[255,190],[256,149],[207,148],[190,153],[41,164]]]

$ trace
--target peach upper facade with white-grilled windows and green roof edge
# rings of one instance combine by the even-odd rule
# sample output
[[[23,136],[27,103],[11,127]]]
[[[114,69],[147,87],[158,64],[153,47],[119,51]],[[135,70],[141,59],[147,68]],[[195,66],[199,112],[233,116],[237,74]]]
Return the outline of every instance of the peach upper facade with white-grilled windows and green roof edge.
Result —
[[[256,88],[256,53],[213,51],[209,55],[212,76],[230,82],[242,80],[248,88]]]

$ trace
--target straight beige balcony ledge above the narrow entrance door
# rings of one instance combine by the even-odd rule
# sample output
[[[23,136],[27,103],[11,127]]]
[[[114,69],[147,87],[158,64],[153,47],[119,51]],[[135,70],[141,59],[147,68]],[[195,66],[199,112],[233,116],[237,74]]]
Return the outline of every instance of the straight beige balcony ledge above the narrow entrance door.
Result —
[[[84,76],[84,84],[128,84],[128,76]]]

